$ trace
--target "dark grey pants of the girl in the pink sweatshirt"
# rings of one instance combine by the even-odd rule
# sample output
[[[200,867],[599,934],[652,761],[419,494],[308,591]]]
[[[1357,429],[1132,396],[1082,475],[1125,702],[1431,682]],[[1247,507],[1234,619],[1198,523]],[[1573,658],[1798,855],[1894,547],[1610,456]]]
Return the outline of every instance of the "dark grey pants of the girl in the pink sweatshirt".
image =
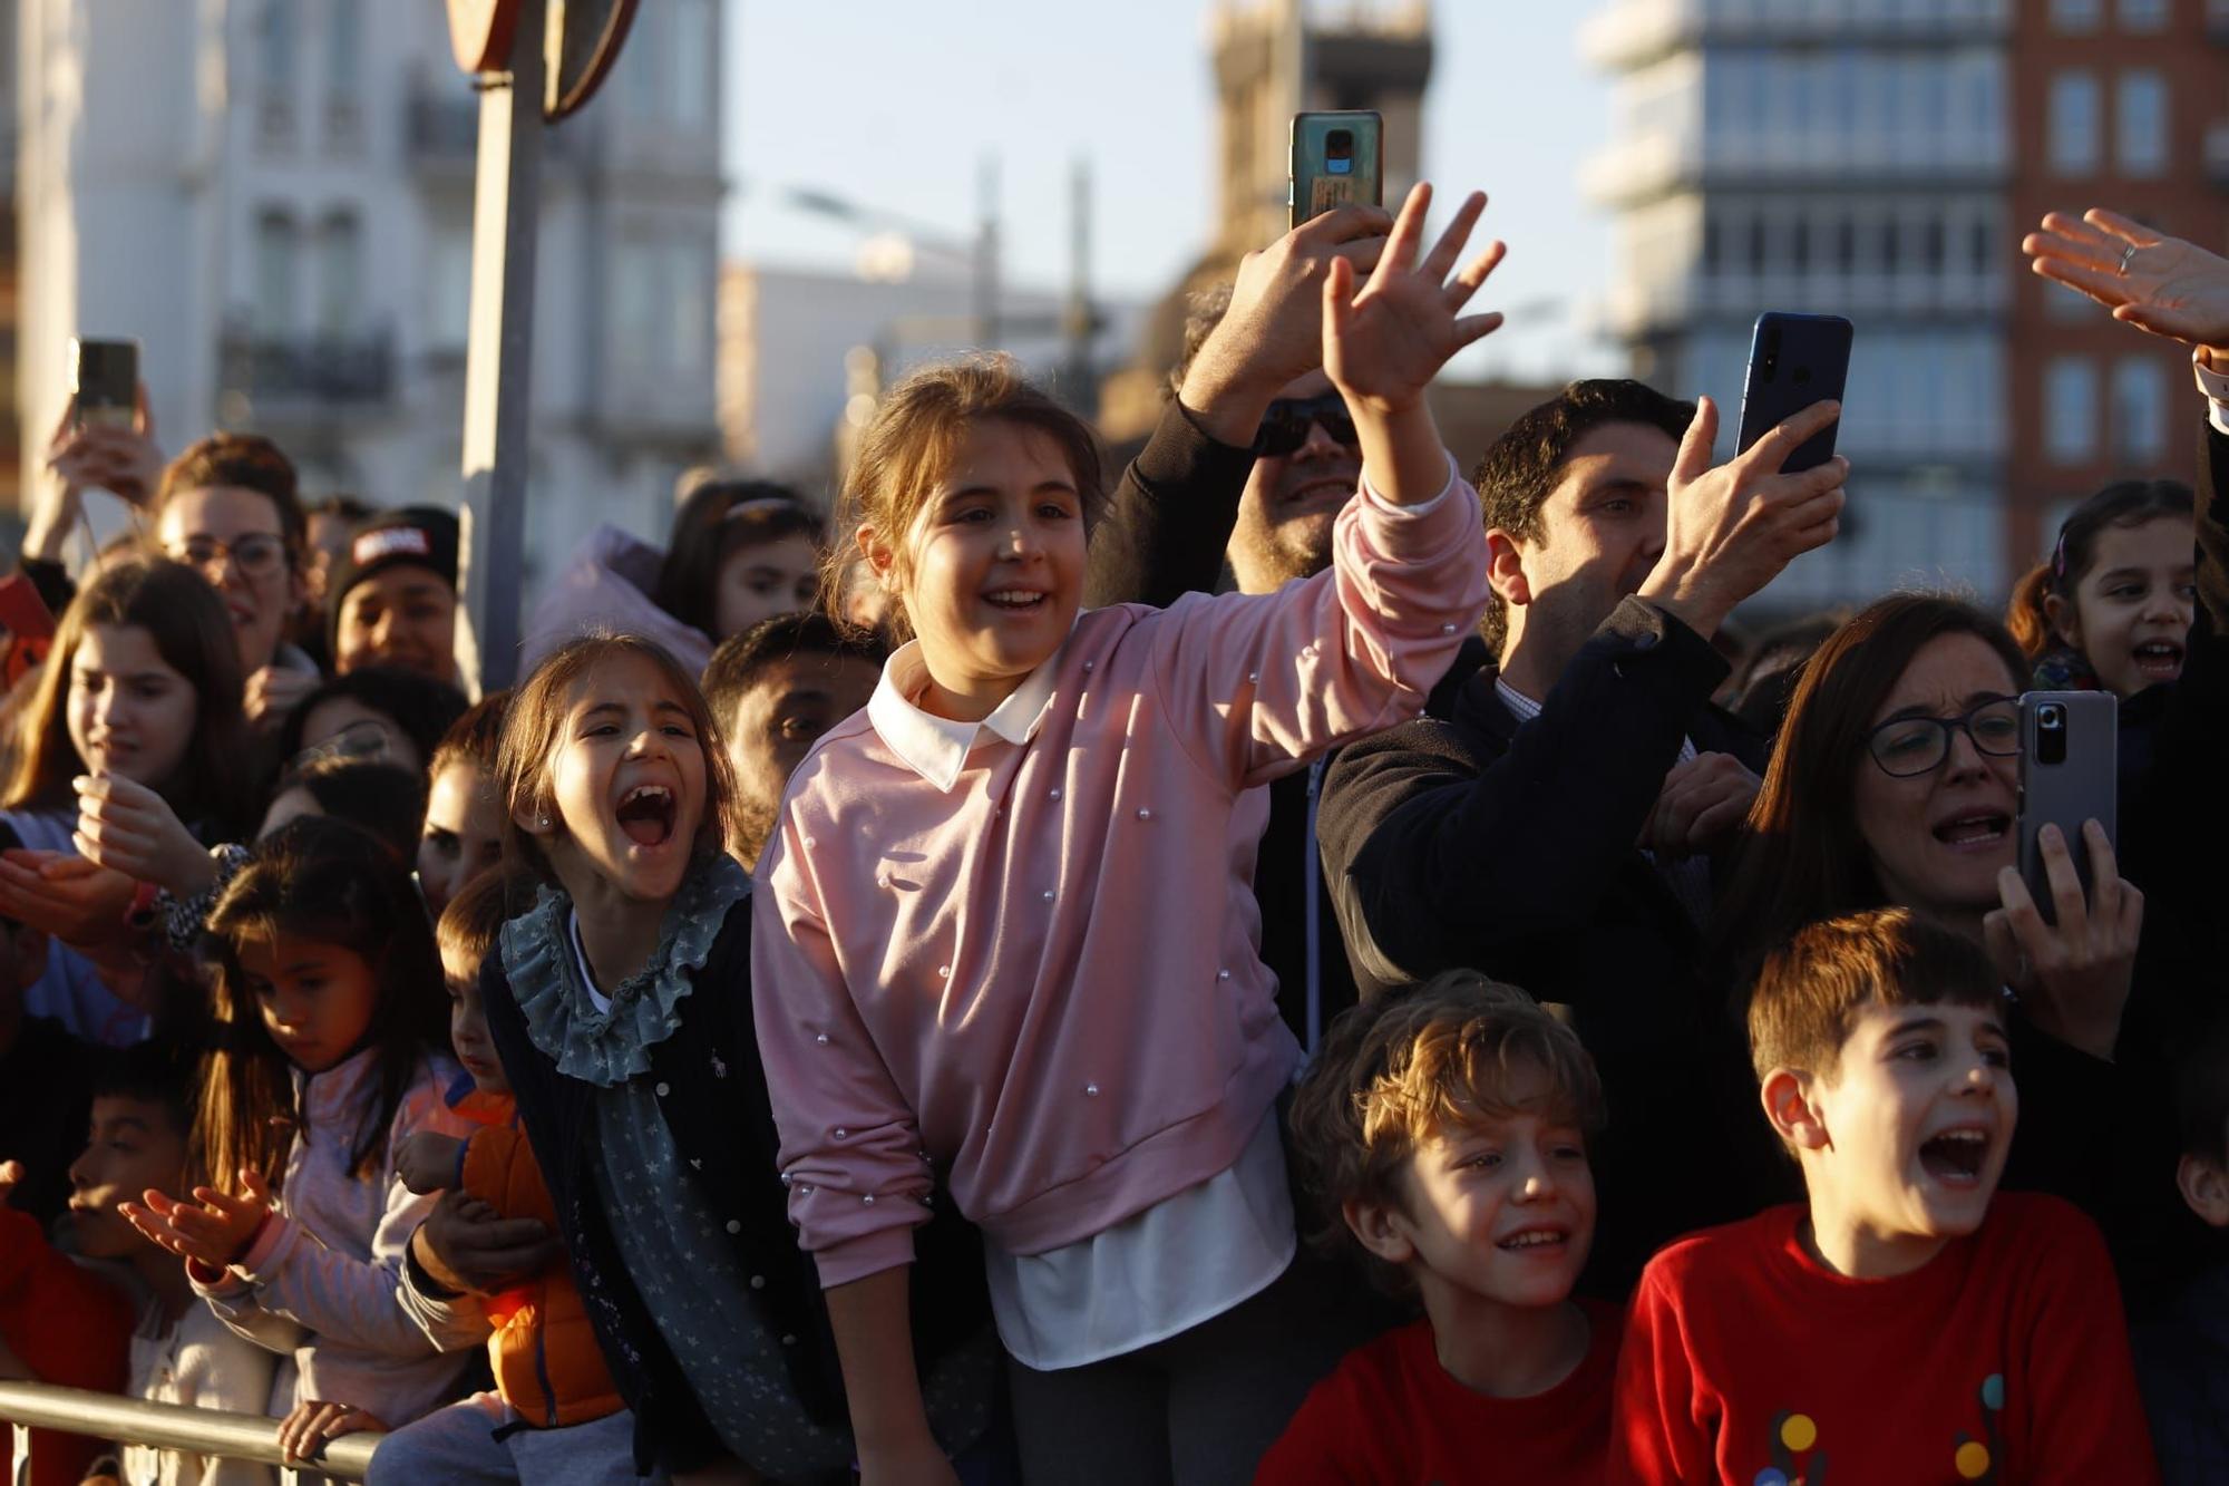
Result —
[[[1308,1388],[1369,1332],[1344,1285],[1295,1261],[1262,1294],[1168,1341],[1039,1372],[1008,1359],[1028,1486],[1250,1482]]]

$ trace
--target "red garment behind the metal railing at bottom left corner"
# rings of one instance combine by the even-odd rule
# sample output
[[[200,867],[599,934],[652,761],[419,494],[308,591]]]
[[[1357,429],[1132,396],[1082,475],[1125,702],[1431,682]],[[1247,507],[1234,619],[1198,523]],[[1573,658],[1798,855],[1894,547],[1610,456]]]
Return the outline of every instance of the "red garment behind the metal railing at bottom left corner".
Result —
[[[0,1207],[0,1341],[42,1383],[123,1392],[132,1370],[132,1301],[56,1252],[38,1218]],[[78,1486],[105,1448],[85,1435],[31,1430],[31,1486]]]

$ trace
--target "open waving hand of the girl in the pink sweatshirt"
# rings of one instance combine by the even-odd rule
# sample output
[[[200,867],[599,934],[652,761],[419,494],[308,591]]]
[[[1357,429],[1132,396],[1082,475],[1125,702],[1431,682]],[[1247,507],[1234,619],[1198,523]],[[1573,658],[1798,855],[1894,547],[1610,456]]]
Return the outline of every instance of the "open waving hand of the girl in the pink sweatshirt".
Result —
[[[1360,290],[1346,259],[1333,259],[1324,274],[1324,370],[1353,413],[1391,415],[1418,406],[1449,357],[1502,324],[1500,315],[1460,312],[1502,261],[1502,243],[1489,243],[1449,279],[1487,210],[1487,194],[1471,192],[1418,263],[1429,208],[1431,185],[1418,183]]]

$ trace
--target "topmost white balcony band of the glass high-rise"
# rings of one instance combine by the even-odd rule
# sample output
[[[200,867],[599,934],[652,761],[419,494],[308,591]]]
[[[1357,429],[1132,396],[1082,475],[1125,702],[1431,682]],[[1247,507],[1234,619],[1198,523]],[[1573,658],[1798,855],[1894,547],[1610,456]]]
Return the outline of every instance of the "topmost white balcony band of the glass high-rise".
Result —
[[[1698,42],[1941,45],[2011,31],[2013,0],[1616,0],[1580,27],[1578,47],[1605,71],[1629,71]]]

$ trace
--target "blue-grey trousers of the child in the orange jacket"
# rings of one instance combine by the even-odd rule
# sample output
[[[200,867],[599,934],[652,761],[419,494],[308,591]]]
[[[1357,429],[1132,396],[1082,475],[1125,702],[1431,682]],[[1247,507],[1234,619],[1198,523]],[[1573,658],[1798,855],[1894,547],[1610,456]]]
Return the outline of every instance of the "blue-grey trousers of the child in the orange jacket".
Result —
[[[493,1392],[437,1408],[379,1441],[366,1486],[633,1486],[635,1415],[624,1408],[562,1430],[513,1430],[495,1437],[513,1412]],[[664,1479],[664,1477],[653,1477]]]

